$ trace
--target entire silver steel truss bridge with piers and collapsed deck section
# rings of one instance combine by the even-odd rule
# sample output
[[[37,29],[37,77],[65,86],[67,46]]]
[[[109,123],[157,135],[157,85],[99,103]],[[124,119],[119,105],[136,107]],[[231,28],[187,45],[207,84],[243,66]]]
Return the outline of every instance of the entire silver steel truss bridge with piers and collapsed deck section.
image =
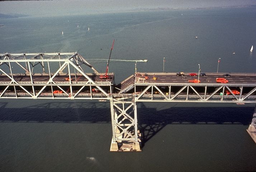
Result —
[[[118,85],[114,73],[100,79],[104,74],[77,52],[0,54],[0,99],[109,101],[110,151],[141,151],[137,102],[256,103],[254,73],[232,73],[228,83],[216,83],[216,77],[224,77],[222,73],[207,73],[200,83],[188,82],[197,77],[175,73],[134,73]],[[256,142],[256,110],[247,132]]]

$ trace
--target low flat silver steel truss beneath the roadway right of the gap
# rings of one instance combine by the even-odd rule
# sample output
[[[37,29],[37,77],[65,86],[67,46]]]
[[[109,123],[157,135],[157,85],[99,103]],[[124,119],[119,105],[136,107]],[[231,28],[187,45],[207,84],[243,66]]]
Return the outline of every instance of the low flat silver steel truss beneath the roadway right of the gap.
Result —
[[[141,89],[136,92],[136,87]],[[232,92],[232,87],[239,87],[239,94],[236,95]],[[143,88],[143,89],[142,89]],[[167,88],[167,89],[166,89]],[[243,92],[244,89],[250,90]],[[175,90],[175,92],[173,92]],[[200,91],[198,91],[200,90]],[[210,90],[210,91],[208,91]],[[225,94],[229,92],[229,95]],[[135,84],[134,87],[134,101],[157,101],[157,102],[256,102],[256,85],[244,84]]]

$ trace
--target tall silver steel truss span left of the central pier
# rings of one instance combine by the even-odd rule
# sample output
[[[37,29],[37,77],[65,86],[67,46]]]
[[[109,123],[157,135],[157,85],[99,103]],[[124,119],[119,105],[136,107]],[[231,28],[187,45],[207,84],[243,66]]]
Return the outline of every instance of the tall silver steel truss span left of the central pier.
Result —
[[[93,81],[88,73],[85,73],[88,67],[93,71],[93,75],[99,74],[78,53],[2,54],[0,55],[0,73],[5,77],[5,81],[0,83],[2,87],[0,98],[109,99],[109,93],[102,86],[109,87],[112,94],[113,83]],[[74,73],[71,72],[73,70]],[[25,74],[21,73],[22,71],[25,71]],[[37,73],[33,73],[34,71]],[[60,75],[64,75],[64,72],[68,79],[57,80]],[[43,81],[36,80],[38,76],[43,77]],[[29,79],[23,82],[20,81],[21,77]],[[80,78],[84,81],[79,81]],[[75,81],[72,81],[74,79]],[[92,92],[92,87],[98,89],[98,92]],[[61,93],[55,93],[54,88]],[[82,93],[86,88],[87,94]]]

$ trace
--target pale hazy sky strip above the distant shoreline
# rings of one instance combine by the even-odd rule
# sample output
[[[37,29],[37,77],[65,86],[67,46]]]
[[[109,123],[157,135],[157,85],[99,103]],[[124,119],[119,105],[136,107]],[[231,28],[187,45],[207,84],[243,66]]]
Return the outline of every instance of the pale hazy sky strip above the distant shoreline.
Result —
[[[52,0],[1,1],[0,13],[72,15],[112,13],[136,8],[204,8],[256,5],[256,0]]]

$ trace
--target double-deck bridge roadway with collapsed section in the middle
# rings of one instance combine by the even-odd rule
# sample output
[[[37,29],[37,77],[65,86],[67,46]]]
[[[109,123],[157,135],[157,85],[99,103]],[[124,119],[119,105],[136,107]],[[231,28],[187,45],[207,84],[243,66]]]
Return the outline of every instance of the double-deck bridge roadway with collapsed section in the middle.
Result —
[[[189,73],[185,73],[185,76],[176,76],[176,73],[146,73],[148,79],[146,80],[145,77],[143,76],[145,73],[137,73],[137,75],[131,75],[124,81],[122,81],[118,85],[114,85],[112,94],[114,96],[118,96],[119,94],[125,94],[131,95],[134,93],[134,86],[137,86],[137,90],[139,89],[143,90],[142,88],[145,88],[148,85],[158,85],[158,86],[184,86],[184,85],[191,85],[191,86],[229,86],[232,87],[233,89],[236,89],[240,91],[241,86],[255,86],[256,85],[256,74],[255,73],[230,73],[231,76],[229,77],[224,77],[223,75],[226,73],[206,73],[206,76],[199,76],[199,80],[201,81],[200,83],[189,83],[189,80],[193,79],[198,79],[198,76],[189,76]],[[86,73],[88,77],[91,78],[91,80],[95,81],[95,83],[98,83],[99,85],[108,84],[108,85],[113,85],[114,82],[114,73],[110,73],[110,78],[108,80],[106,79],[100,79],[100,75],[104,75],[104,73]],[[157,77],[157,80],[153,80],[153,77]],[[216,78],[226,78],[228,80],[228,83],[216,83]],[[46,84],[49,81],[49,74],[46,73],[35,73],[32,75],[32,79],[30,78],[30,75],[25,74],[25,73],[15,73],[13,74],[14,80],[20,84],[20,85],[43,85]],[[53,78],[54,84],[60,84],[63,86],[76,86],[76,85],[83,85],[85,84],[88,79],[81,75],[80,73],[71,73],[70,78],[71,81],[67,81],[66,78],[69,78],[69,75],[67,73],[60,73],[56,75]],[[135,80],[137,82],[135,82]],[[33,81],[33,82],[32,82]],[[5,89],[3,87],[4,85],[16,85],[16,84],[10,84],[11,83],[11,78],[1,74],[0,75],[0,92]],[[35,88],[37,89],[37,88]],[[161,88],[160,88],[161,89]],[[120,91],[122,90],[122,91]],[[18,93],[23,93],[25,94],[26,92],[24,90],[16,90]],[[37,90],[35,90],[37,91]],[[75,91],[75,88],[73,88],[73,91]],[[110,93],[109,89],[105,89],[106,92]],[[9,95],[11,95],[12,91],[6,90],[6,93],[9,92]],[[80,92],[80,96],[82,94],[87,94],[90,92],[90,90],[82,90]],[[199,90],[200,94],[204,93],[204,90]],[[248,93],[249,91],[246,91],[246,88],[243,90],[244,93]],[[47,93],[51,93],[50,90],[45,90],[43,93],[46,95]],[[94,95],[100,94],[100,91],[95,91]],[[176,92],[170,92],[170,94],[175,94]],[[189,90],[190,94],[195,94],[193,91]],[[181,92],[180,95],[185,94],[184,92]],[[7,95],[7,94],[5,94]],[[61,96],[62,94],[56,94],[58,96]],[[252,97],[255,94],[251,94],[250,96]],[[48,96],[48,95],[47,95]],[[65,95],[62,95],[65,96]],[[119,95],[120,96],[120,95]]]

